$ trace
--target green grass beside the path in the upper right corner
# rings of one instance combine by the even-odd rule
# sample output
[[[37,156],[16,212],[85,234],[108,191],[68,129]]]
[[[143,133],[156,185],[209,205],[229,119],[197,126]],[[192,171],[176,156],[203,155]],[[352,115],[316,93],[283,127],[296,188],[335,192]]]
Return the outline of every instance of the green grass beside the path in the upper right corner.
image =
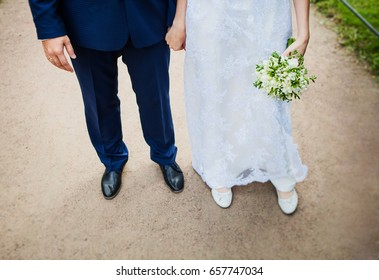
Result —
[[[379,38],[372,33],[341,1],[311,0],[329,18],[339,35],[339,42],[368,63],[379,76]],[[348,0],[376,30],[379,30],[378,0]]]

